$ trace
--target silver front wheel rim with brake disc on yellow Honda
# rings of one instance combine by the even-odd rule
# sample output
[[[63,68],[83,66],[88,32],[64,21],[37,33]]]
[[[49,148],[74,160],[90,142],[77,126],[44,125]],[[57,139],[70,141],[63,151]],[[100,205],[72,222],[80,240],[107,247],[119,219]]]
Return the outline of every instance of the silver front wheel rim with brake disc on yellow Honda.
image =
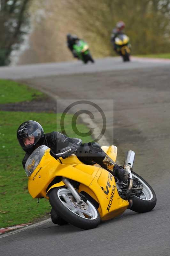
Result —
[[[73,196],[68,188],[61,188],[57,192],[60,202],[75,215],[87,219],[95,220],[98,216],[97,210],[93,204],[88,200],[83,206],[76,205],[76,202],[73,202]]]

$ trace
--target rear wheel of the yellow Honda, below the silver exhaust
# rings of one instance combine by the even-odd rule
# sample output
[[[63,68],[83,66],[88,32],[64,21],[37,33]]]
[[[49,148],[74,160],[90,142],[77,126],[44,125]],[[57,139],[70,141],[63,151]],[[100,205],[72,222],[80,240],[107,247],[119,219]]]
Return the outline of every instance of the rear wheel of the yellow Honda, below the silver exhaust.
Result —
[[[155,195],[155,192],[153,188],[144,180],[141,176],[139,176],[137,173],[132,172],[133,180],[135,182],[135,179],[138,179],[140,183],[143,185],[142,194],[140,197],[134,196],[133,204],[130,210],[134,212],[149,212],[151,211],[157,202],[157,198]]]

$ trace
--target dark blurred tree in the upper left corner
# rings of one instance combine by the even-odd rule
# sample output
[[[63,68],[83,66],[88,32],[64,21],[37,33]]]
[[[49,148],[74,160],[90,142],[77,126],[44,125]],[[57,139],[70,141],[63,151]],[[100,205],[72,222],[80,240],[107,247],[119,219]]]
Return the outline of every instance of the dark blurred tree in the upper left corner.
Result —
[[[31,0],[0,0],[0,66],[10,63],[28,29],[28,3]]]

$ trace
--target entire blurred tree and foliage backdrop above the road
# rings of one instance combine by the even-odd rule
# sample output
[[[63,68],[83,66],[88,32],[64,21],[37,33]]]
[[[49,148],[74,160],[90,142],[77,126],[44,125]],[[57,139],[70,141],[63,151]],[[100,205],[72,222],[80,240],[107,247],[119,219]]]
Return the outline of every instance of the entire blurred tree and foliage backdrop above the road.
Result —
[[[0,0],[0,66],[17,49],[17,64],[73,60],[67,33],[86,40],[95,58],[113,56],[119,20],[133,55],[169,52],[170,0]]]

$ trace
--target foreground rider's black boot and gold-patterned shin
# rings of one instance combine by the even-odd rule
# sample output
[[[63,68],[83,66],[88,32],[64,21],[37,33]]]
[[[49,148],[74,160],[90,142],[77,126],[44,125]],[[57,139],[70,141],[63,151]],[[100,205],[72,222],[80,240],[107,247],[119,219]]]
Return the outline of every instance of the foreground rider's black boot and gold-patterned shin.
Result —
[[[110,156],[106,155],[104,157],[103,164],[118,180],[123,182],[128,180],[129,173],[119,165],[115,164]]]

